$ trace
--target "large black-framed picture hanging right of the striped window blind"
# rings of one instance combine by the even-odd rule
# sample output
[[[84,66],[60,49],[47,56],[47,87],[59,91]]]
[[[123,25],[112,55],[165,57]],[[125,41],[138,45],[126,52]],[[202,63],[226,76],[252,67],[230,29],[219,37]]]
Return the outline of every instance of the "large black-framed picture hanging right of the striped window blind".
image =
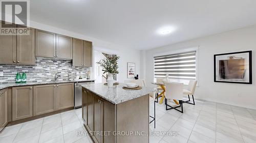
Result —
[[[252,51],[214,55],[214,81],[252,84]]]

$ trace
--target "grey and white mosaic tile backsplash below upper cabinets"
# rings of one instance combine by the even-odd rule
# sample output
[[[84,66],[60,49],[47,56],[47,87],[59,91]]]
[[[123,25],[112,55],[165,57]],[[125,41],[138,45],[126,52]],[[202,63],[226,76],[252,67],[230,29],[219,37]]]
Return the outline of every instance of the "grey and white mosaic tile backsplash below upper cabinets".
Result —
[[[0,84],[14,83],[16,73],[26,72],[27,82],[46,82],[54,80],[54,75],[59,74],[58,80],[73,80],[78,75],[90,78],[90,67],[73,67],[70,60],[56,60],[36,58],[35,65],[6,65],[0,64]]]

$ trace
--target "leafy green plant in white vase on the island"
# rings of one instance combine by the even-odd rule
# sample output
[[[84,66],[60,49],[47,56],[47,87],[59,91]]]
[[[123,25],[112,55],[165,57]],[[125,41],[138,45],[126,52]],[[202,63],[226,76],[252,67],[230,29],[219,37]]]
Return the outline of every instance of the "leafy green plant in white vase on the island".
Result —
[[[108,73],[108,79],[106,82],[108,83],[108,87],[112,88],[114,84],[113,74],[118,74],[118,60],[119,56],[109,56],[107,55],[105,59],[100,60],[96,64],[99,64],[102,67],[103,74]]]

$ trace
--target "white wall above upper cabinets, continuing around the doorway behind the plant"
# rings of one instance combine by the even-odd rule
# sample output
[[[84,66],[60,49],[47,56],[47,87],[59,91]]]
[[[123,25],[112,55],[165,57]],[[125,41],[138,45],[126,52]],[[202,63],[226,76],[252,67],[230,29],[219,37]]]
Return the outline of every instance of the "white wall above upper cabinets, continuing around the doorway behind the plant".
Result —
[[[119,74],[118,74],[118,81],[123,82],[127,78],[127,62],[133,62],[136,64],[136,74],[140,75],[140,51],[134,50],[129,47],[123,47],[121,45],[117,45],[111,42],[103,41],[100,39],[96,39],[93,37],[89,37],[86,35],[70,32],[67,30],[63,30],[57,27],[53,27],[50,25],[45,25],[42,23],[38,23],[35,21],[30,22],[30,26],[34,28],[38,28],[40,30],[50,31],[57,34],[67,35],[70,37],[88,40],[93,42],[94,50],[104,51],[106,53],[114,53],[120,56],[119,60]],[[93,58],[94,59],[94,58]],[[93,60],[93,67],[94,64],[98,61]],[[94,70],[95,68],[91,68],[91,77],[94,78]]]

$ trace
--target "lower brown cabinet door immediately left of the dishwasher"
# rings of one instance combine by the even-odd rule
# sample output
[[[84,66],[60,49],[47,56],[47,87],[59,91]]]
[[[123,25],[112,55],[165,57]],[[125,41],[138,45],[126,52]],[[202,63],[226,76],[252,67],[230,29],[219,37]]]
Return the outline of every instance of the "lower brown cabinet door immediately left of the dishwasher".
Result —
[[[61,83],[56,87],[56,110],[74,107],[74,83]]]

